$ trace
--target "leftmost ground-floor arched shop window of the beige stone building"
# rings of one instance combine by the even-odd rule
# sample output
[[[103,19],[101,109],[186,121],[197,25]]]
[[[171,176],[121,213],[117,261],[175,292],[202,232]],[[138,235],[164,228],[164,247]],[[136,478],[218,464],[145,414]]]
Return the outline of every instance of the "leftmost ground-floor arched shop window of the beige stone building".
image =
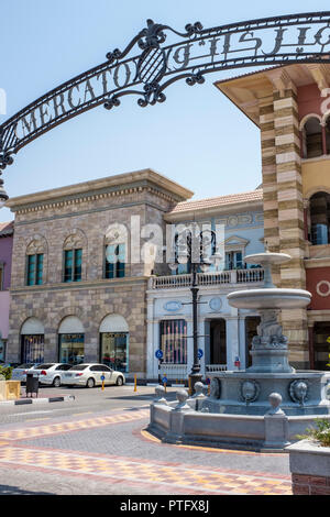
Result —
[[[43,363],[45,329],[37,318],[26,319],[21,329],[21,363]]]

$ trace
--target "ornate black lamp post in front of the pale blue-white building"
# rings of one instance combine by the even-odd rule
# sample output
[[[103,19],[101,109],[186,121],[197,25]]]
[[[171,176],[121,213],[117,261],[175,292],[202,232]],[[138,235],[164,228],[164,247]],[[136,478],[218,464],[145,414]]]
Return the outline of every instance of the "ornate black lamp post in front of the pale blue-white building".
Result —
[[[197,244],[196,244],[197,241]],[[200,364],[198,359],[198,339],[201,337],[198,334],[198,305],[205,304],[205,301],[198,301],[198,268],[205,273],[211,264],[216,266],[221,261],[222,256],[219,253],[213,253],[211,260],[205,258],[202,254],[202,232],[198,237],[187,235],[187,254],[180,257],[176,257],[175,262],[170,264],[170,268],[174,270],[178,264],[190,263],[191,267],[191,287],[190,292],[193,295],[191,302],[183,305],[193,305],[193,346],[194,346],[194,364],[191,372],[189,373],[191,393],[194,393],[195,384],[201,381],[202,374],[200,373]],[[195,246],[194,246],[195,244]]]

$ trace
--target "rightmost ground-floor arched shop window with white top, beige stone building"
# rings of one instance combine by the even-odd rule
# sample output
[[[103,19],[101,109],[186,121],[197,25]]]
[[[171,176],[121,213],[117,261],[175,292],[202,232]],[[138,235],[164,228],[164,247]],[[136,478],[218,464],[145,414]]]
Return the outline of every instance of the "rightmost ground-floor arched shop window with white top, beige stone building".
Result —
[[[129,326],[123,316],[108,315],[100,329],[100,362],[119,372],[129,371]]]

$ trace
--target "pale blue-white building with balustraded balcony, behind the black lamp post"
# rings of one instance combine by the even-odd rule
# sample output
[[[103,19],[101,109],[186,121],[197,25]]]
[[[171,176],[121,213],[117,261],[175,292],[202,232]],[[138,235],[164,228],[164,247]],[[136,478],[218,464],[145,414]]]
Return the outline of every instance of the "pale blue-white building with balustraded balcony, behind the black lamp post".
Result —
[[[198,273],[198,348],[201,373],[250,365],[249,349],[260,317],[229,306],[233,290],[263,285],[263,270],[248,267],[244,256],[264,251],[263,191],[256,189],[178,204],[165,215],[176,228],[220,228],[223,261]],[[222,228],[223,227],[223,228]],[[152,276],[147,289],[147,376],[187,378],[194,363],[191,274],[189,264],[172,275]],[[158,364],[156,351],[162,350]]]

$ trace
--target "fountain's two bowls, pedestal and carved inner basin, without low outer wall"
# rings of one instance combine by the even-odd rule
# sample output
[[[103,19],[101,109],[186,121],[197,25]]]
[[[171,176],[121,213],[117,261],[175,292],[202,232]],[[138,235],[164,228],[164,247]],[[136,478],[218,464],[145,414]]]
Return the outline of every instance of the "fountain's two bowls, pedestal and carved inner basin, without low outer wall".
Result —
[[[257,336],[252,340],[252,366],[245,371],[223,372],[211,377],[211,397],[205,407],[211,413],[265,415],[268,396],[282,396],[286,415],[328,415],[330,403],[326,391],[330,373],[297,372],[288,362],[288,339],[278,323],[280,309],[305,308],[311,295],[307,290],[277,288],[272,280],[272,265],[290,261],[284,253],[260,253],[245,256],[248,264],[260,264],[265,272],[264,286],[228,295],[228,301],[238,309],[260,312]]]

